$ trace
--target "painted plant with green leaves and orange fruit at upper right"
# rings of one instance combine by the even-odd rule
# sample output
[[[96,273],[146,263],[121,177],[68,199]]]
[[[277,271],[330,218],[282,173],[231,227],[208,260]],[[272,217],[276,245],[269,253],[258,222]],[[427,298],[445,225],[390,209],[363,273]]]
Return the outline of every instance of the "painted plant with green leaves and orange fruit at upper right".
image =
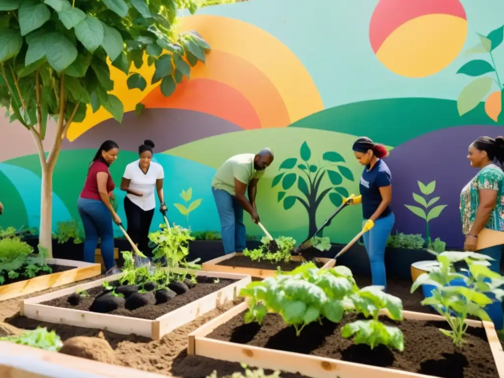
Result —
[[[473,48],[466,51],[469,54],[488,54],[490,61],[484,59],[473,59],[462,66],[457,74],[463,74],[471,77],[477,77],[471,83],[466,85],[457,99],[457,108],[460,115],[464,115],[476,108],[484,97],[486,114],[497,122],[502,110],[502,82],[499,77],[497,66],[495,65],[493,50],[497,48],[504,39],[504,25],[492,30],[488,35],[478,34],[480,42]]]

